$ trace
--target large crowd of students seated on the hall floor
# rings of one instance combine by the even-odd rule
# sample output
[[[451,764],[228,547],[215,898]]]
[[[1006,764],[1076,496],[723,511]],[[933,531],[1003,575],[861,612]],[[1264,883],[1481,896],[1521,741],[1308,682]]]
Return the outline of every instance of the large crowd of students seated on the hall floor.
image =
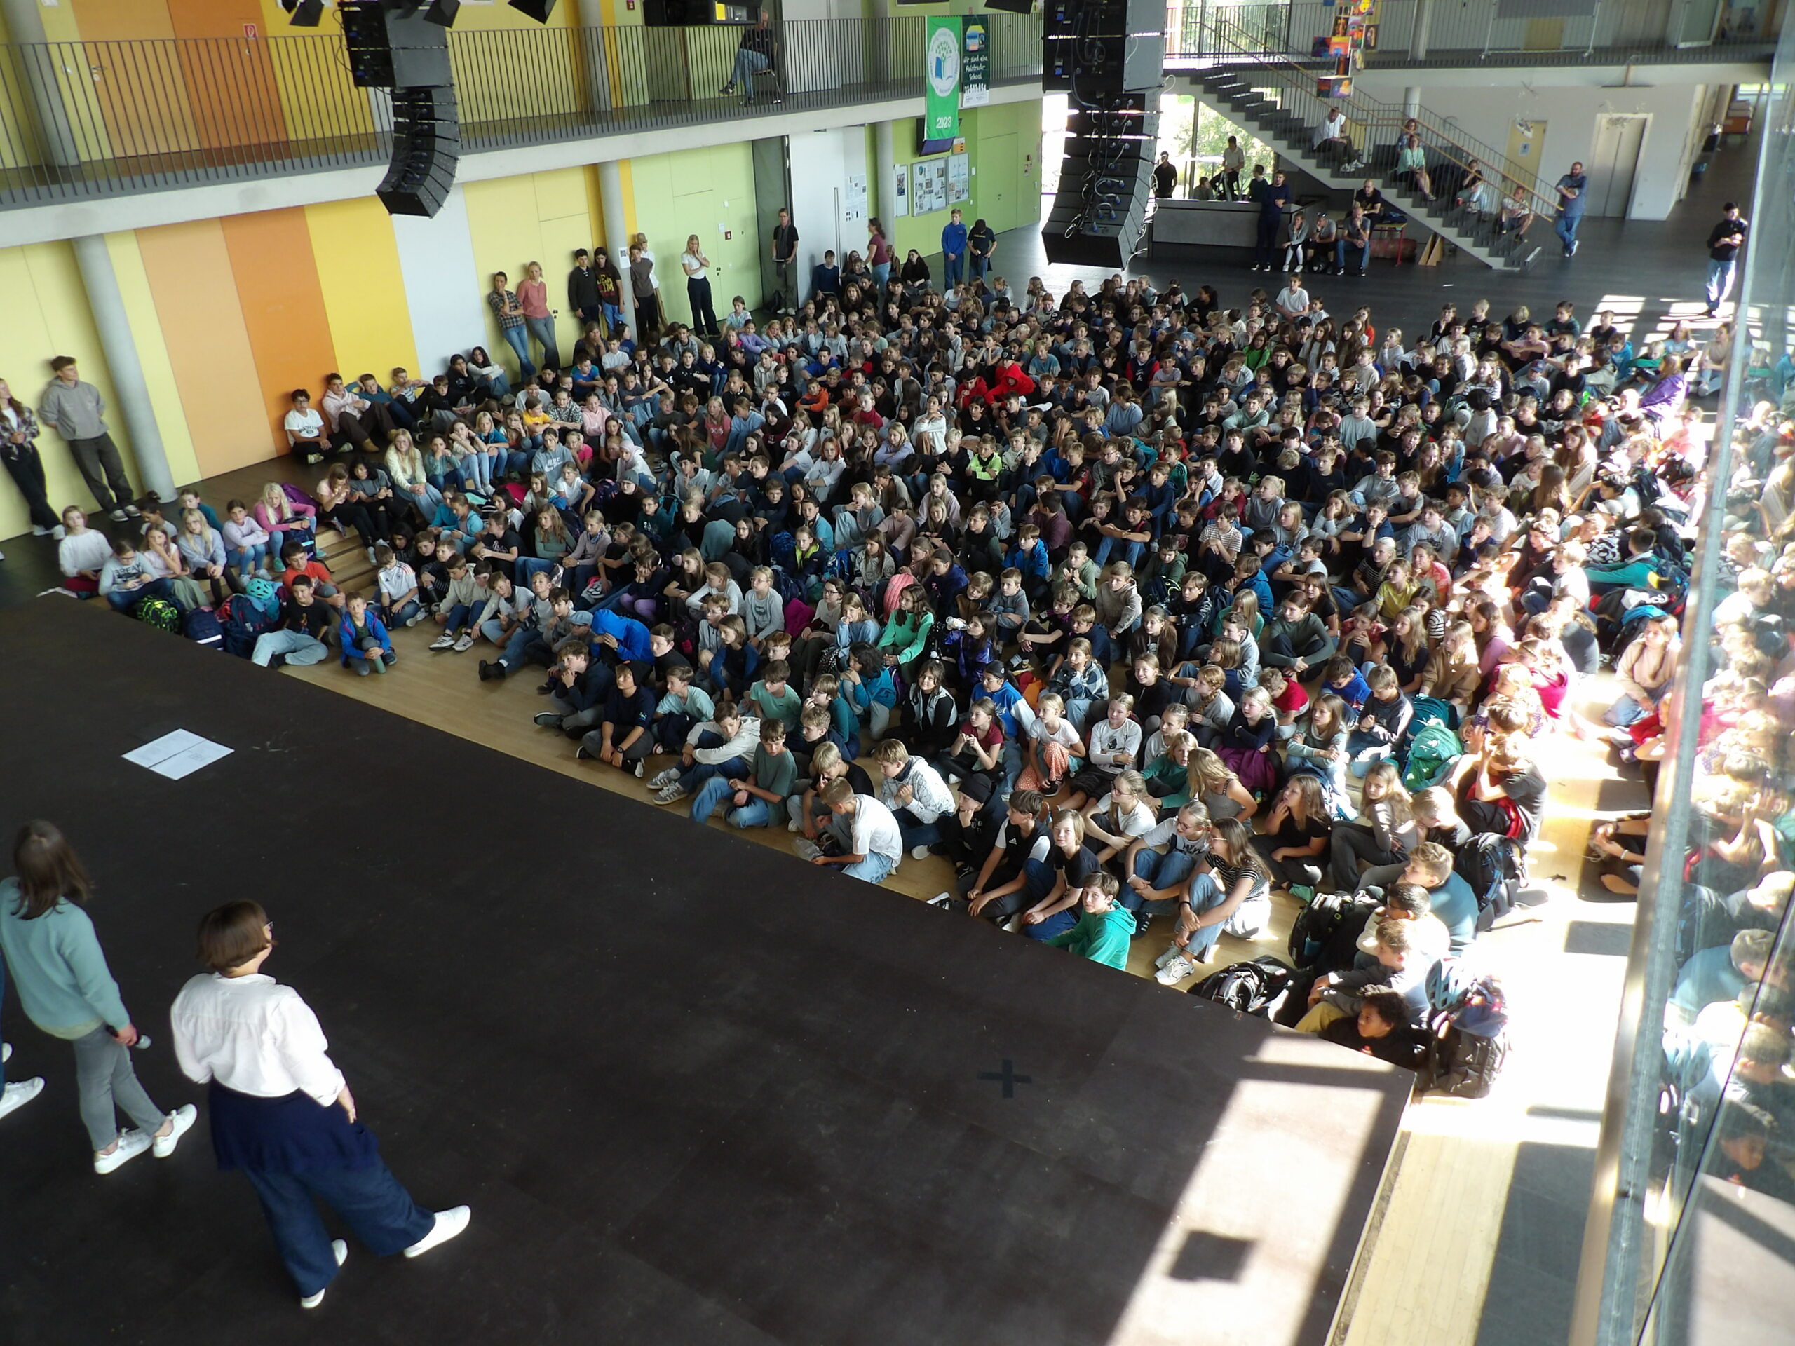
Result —
[[[765,328],[736,303],[714,341],[603,346],[515,393],[485,352],[438,393],[332,380],[348,459],[230,522],[183,499],[172,555],[214,592],[267,571],[258,662],[384,671],[429,623],[661,804],[872,881],[946,856],[939,906],[1116,967],[1160,917],[1169,985],[1264,933],[1273,890],[1366,894],[1287,1009],[1393,1057],[1477,933],[1479,838],[1540,827],[1542,738],[1659,752],[1702,354],[1637,359],[1608,314],[1447,305],[1405,337],[1321,296],[844,275]],[[334,592],[323,526],[377,592]],[[81,537],[65,571],[131,592]],[[1741,594],[1786,596],[1743,560]],[[1610,653],[1601,727],[1574,696]]]

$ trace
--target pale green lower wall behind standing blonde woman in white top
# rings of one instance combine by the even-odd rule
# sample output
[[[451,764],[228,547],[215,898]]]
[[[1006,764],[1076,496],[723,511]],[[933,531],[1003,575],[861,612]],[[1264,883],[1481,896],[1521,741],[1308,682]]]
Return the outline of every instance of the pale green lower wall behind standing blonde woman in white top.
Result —
[[[689,323],[686,273],[679,255],[696,233],[713,262],[711,296],[718,318],[732,294],[752,309],[761,302],[761,232],[754,217],[754,160],[749,142],[680,149],[630,160],[635,228],[648,235],[661,276],[661,305],[670,321]],[[722,228],[718,228],[722,226]],[[723,237],[723,230],[732,233]]]

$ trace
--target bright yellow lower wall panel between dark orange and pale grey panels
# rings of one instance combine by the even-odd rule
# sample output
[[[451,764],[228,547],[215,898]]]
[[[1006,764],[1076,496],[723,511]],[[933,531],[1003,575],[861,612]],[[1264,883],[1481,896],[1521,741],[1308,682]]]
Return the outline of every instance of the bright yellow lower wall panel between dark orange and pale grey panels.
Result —
[[[418,368],[411,309],[398,271],[393,219],[375,197],[305,206],[318,282],[330,318],[337,371],[384,375],[395,364]]]

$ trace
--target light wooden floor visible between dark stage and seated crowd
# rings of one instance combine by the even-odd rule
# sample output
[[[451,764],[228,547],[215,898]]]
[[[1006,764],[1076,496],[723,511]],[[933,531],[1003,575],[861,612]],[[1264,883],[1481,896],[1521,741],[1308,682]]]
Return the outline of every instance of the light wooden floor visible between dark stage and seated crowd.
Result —
[[[364,553],[328,531],[325,544],[345,587],[370,581]],[[535,669],[481,682],[477,660],[492,651],[481,644],[460,655],[431,653],[434,634],[433,623],[395,632],[398,662],[386,677],[355,677],[334,659],[287,675],[650,802],[643,781],[576,761],[571,739],[531,723],[544,705],[533,695],[540,682]],[[1603,684],[1589,687],[1590,712],[1607,695]],[[1633,915],[1628,903],[1578,897],[1581,852],[1592,818],[1646,800],[1637,782],[1607,765],[1599,745],[1560,734],[1542,756],[1553,806],[1531,865],[1553,901],[1535,919],[1504,922],[1472,951],[1508,989],[1510,1066],[1490,1098],[1409,1104],[1335,1323],[1334,1341],[1343,1346],[1544,1346],[1563,1339],[1558,1324],[1569,1323],[1589,1201],[1580,1179],[1594,1154]],[[652,757],[650,775],[657,761],[666,763]],[[727,827],[722,820],[709,826]],[[781,849],[793,840],[777,826],[749,836]],[[905,858],[889,881],[917,899],[951,885],[953,870],[939,858]],[[1274,896],[1273,906],[1273,930],[1253,942],[1224,935],[1212,967],[1260,953],[1287,957],[1296,903]],[[1136,940],[1129,973],[1151,976],[1161,948],[1158,939]]]

